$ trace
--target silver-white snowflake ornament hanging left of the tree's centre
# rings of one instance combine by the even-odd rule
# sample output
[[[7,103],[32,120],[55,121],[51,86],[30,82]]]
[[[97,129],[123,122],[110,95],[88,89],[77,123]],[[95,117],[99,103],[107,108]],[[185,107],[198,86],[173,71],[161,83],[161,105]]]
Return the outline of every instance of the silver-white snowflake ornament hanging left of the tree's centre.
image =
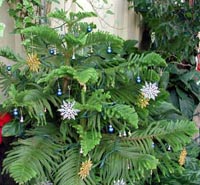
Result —
[[[69,101],[64,101],[63,100],[63,105],[61,105],[61,108],[58,109],[58,111],[60,112],[60,115],[63,117],[63,119],[74,119],[75,120],[75,116],[78,115],[78,112],[80,112],[80,110],[78,109],[74,109],[73,106],[75,104],[75,101],[73,102],[69,102]]]

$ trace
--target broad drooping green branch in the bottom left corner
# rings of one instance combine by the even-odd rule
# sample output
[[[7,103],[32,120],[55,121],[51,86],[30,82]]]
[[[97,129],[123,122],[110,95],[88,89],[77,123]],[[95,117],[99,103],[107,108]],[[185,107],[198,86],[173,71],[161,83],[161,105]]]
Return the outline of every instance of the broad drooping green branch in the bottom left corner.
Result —
[[[15,145],[8,152],[3,166],[4,172],[9,173],[16,183],[24,184],[33,178],[45,177],[56,168],[57,146],[47,137],[18,140]]]

